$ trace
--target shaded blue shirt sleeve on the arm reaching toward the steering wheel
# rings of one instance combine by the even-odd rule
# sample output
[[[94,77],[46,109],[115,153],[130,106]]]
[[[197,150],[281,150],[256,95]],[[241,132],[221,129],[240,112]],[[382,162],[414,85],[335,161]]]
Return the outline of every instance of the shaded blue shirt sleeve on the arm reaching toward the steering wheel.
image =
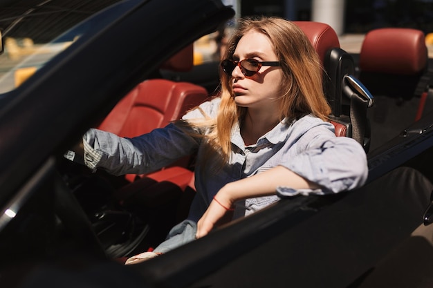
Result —
[[[199,143],[176,124],[133,138],[90,129],[83,137],[84,163],[113,175],[149,173],[191,155]]]

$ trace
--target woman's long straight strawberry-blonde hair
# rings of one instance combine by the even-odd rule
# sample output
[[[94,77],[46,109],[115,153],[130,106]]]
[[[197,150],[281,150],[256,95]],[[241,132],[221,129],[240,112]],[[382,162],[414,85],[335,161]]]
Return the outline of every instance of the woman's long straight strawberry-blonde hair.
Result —
[[[306,114],[313,114],[324,121],[331,113],[322,86],[322,66],[317,52],[304,32],[291,21],[277,17],[246,18],[239,21],[239,27],[228,41],[223,59],[232,59],[239,40],[246,32],[256,30],[268,37],[273,44],[283,70],[279,119],[293,120]],[[210,150],[219,151],[223,163],[230,160],[232,152],[231,132],[237,122],[242,122],[248,108],[237,106],[232,97],[232,77],[221,76],[221,104],[216,119],[207,119],[196,126],[212,127],[207,135]],[[210,155],[207,155],[210,156]]]

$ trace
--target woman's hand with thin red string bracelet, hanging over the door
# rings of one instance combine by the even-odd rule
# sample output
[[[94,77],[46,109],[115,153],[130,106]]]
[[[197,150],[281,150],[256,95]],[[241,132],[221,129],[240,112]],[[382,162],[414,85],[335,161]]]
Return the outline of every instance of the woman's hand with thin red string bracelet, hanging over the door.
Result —
[[[216,194],[214,200],[210,202],[208,210],[205,211],[199,222],[197,222],[196,238],[207,235],[216,226],[230,222],[234,210],[231,207],[232,203],[221,197],[221,193]]]

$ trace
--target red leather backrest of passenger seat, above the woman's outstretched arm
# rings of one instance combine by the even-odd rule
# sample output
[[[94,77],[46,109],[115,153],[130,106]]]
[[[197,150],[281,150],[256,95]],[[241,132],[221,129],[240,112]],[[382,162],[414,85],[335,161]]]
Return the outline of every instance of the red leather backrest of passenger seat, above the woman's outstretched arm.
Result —
[[[187,110],[201,104],[207,97],[205,88],[187,82],[146,80],[113,108],[99,128],[121,137],[149,133],[180,119]]]

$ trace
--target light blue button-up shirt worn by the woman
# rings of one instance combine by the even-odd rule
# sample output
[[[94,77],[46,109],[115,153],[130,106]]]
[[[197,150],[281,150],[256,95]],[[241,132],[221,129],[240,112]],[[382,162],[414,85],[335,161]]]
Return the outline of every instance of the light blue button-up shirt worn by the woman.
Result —
[[[215,98],[201,104],[201,109],[210,117],[216,117],[220,102],[221,99]],[[203,113],[196,109],[183,119],[203,117]],[[222,169],[215,169],[212,159],[201,165],[203,138],[192,137],[176,124],[133,138],[91,129],[84,135],[84,140],[86,165],[91,169],[105,169],[114,175],[149,173],[197,151],[194,171],[197,195],[189,216],[193,221],[201,218],[213,196],[225,184],[278,165],[320,184],[322,188],[295,191],[291,187],[277,186],[275,195],[237,203],[235,217],[264,208],[282,195],[338,193],[354,189],[365,183],[368,173],[367,157],[362,146],[349,137],[335,137],[333,125],[313,115],[293,122],[280,122],[251,146],[245,146],[239,126],[234,126],[232,155],[230,162]]]

